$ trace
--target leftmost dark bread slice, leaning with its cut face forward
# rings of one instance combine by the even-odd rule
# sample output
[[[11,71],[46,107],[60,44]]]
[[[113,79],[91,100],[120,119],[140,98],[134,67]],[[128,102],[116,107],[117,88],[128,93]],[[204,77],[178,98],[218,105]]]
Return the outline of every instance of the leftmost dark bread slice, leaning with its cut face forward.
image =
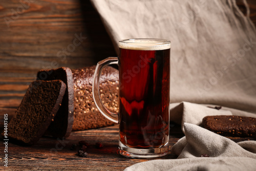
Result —
[[[33,81],[8,124],[8,138],[19,144],[36,143],[57,113],[65,90],[61,80]]]

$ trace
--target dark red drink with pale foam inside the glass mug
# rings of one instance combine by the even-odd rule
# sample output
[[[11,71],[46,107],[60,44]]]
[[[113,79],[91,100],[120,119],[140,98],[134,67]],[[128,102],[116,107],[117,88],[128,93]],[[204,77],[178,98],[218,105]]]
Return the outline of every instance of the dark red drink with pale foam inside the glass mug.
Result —
[[[170,47],[119,44],[119,140],[158,148],[169,140]]]

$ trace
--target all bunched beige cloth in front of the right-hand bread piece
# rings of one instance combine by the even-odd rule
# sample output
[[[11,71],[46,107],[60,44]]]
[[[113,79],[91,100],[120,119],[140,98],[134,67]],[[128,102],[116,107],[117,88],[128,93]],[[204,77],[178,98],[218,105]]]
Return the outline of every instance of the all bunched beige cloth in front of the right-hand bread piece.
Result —
[[[256,141],[235,143],[190,123],[184,123],[184,131],[172,148],[178,159],[141,162],[124,170],[255,170]]]

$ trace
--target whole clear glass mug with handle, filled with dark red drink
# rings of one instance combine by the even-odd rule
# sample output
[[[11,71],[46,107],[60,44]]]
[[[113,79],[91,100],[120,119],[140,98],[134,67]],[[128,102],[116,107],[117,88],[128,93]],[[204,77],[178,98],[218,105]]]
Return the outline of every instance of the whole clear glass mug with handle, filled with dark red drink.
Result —
[[[99,95],[102,69],[119,68],[119,113],[105,108]],[[119,154],[133,158],[165,156],[169,148],[170,41],[119,41],[119,57],[97,63],[93,98],[109,120],[119,123]]]

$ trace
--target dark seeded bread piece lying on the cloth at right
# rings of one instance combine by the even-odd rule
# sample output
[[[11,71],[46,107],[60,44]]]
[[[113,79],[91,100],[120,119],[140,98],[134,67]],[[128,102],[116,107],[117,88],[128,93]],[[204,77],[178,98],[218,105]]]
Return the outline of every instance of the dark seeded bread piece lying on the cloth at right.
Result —
[[[206,116],[203,127],[209,131],[229,137],[254,137],[256,118],[233,115]]]

